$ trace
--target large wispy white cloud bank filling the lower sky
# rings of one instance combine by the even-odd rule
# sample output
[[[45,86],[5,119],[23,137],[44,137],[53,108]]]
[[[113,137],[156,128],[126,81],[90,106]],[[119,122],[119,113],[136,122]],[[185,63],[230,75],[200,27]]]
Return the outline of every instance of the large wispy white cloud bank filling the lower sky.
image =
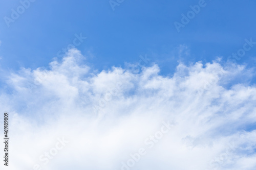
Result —
[[[250,80],[251,69],[181,63],[164,77],[157,65],[95,74],[84,63],[73,49],[50,70],[10,75],[0,107],[10,113],[11,169],[121,169],[140,148],[146,154],[131,169],[255,168],[256,88],[228,87],[241,75]],[[149,148],[144,141],[163,120],[174,126]],[[43,165],[39,157],[62,136],[70,142]]]

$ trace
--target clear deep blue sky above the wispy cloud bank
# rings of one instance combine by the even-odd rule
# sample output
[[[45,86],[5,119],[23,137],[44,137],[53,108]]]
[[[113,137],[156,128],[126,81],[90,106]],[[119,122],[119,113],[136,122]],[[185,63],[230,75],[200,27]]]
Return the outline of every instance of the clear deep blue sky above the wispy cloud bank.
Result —
[[[87,39],[76,47],[84,54],[90,51],[94,57],[88,62],[97,69],[137,62],[147,54],[167,74],[181,60],[170,59],[180,44],[190,50],[184,62],[210,62],[237,52],[245,38],[256,41],[254,1],[205,1],[206,6],[178,33],[174,22],[180,22],[181,14],[198,3],[124,1],[113,11],[108,1],[35,1],[8,28],[4,17],[11,17],[11,9],[16,10],[20,2],[3,2],[1,64],[8,69],[48,66],[59,50],[73,42],[75,34],[82,33]],[[255,49],[239,62],[252,64],[248,61]]]

